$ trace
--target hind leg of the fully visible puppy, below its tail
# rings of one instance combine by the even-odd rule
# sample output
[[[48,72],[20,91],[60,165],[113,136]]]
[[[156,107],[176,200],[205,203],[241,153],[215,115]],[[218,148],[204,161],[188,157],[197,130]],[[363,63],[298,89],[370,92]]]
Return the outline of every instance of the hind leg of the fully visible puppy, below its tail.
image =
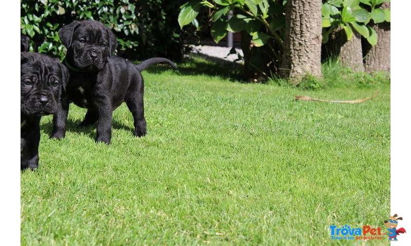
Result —
[[[125,97],[125,103],[132,112],[134,118],[134,136],[142,137],[147,134],[147,122],[144,118],[143,91],[129,90]]]

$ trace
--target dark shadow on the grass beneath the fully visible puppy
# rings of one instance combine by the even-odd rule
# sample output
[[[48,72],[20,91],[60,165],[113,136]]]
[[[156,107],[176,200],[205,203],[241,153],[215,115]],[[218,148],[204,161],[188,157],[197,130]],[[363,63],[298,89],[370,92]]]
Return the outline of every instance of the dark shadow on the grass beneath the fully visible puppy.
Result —
[[[97,133],[96,131],[94,131],[94,129],[96,128],[97,123],[95,123],[92,126],[88,126],[88,127],[79,127],[80,123],[81,123],[81,120],[73,120],[73,119],[68,118],[66,121],[66,130],[68,132],[76,132],[78,134],[84,134],[92,139],[96,139]],[[43,131],[48,136],[51,136],[51,131],[53,129],[53,123],[45,122],[41,124],[40,128],[43,129]],[[134,128],[130,126],[126,126],[118,122],[116,119],[113,119],[113,129],[129,131],[131,134],[133,134],[134,132]]]

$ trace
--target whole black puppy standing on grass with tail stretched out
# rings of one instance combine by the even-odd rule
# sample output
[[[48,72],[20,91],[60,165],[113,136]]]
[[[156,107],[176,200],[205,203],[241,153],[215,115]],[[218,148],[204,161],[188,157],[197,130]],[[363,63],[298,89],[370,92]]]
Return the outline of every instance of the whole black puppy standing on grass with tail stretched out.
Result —
[[[59,31],[67,47],[63,63],[70,70],[67,95],[62,97],[62,107],[53,118],[52,138],[63,138],[69,103],[87,108],[80,126],[97,124],[96,141],[110,144],[113,111],[124,101],[134,118],[134,135],[144,136],[144,83],[140,72],[156,63],[167,63],[165,58],[151,58],[134,65],[111,52],[117,48],[116,36],[95,20],[74,21]]]

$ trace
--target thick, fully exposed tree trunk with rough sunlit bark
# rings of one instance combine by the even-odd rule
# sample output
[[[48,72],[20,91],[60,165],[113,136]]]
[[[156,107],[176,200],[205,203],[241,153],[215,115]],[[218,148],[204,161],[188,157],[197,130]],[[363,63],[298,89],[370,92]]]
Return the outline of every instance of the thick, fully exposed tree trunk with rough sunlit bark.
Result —
[[[299,83],[306,74],[321,77],[321,1],[289,0],[280,73]]]

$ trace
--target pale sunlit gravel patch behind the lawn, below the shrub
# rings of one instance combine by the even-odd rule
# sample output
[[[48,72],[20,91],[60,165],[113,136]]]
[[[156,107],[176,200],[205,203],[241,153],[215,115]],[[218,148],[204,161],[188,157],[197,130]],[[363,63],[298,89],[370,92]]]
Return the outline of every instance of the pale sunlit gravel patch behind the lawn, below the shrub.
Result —
[[[223,60],[234,61],[238,58],[237,54],[230,54],[231,48],[221,47],[221,46],[209,46],[209,45],[191,45],[193,48],[193,53],[206,55],[210,57],[216,57]],[[235,48],[235,51],[242,56],[242,50]],[[236,61],[236,63],[242,63],[242,61]]]

